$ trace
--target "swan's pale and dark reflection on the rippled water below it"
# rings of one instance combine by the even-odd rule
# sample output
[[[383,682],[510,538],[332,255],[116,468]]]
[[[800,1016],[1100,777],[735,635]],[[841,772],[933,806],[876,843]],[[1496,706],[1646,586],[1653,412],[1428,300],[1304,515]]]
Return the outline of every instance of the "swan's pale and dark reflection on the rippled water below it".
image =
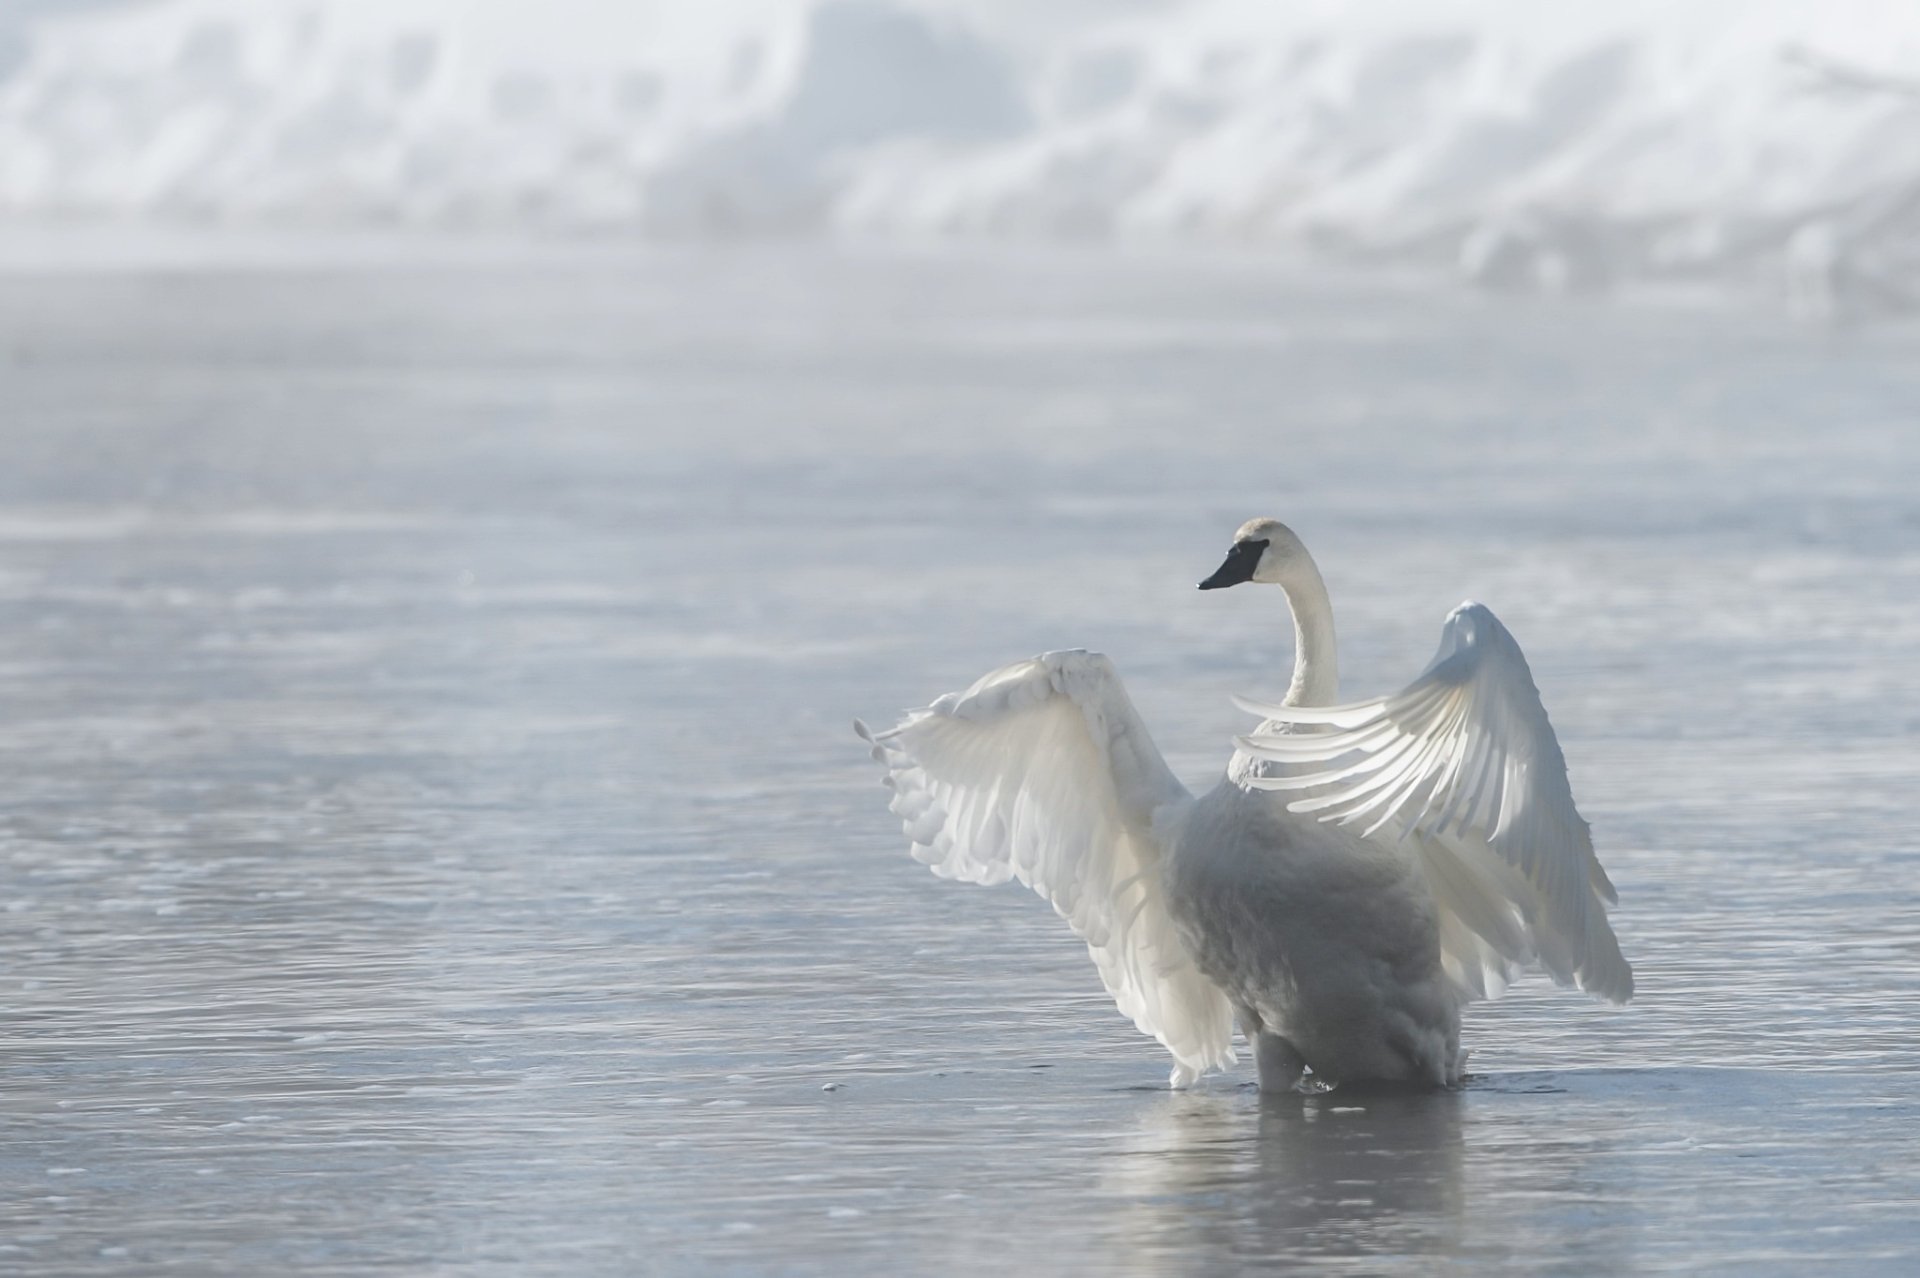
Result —
[[[1208,1263],[1453,1251],[1463,1215],[1457,1092],[1167,1094],[1102,1182],[1116,1245],[1169,1272]],[[1200,1268],[1206,1268],[1202,1265]]]

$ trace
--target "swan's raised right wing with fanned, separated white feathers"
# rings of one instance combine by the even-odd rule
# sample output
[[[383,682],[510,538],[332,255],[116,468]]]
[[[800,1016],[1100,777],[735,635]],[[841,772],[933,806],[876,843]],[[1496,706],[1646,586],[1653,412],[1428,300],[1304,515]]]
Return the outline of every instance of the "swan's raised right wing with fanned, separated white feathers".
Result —
[[[1561,984],[1632,998],[1607,925],[1619,896],[1521,645],[1488,608],[1455,608],[1432,664],[1392,697],[1240,708],[1298,725],[1240,741],[1286,766],[1248,785],[1298,793],[1292,812],[1413,848],[1440,906],[1442,961],[1465,994],[1498,994],[1538,959]]]

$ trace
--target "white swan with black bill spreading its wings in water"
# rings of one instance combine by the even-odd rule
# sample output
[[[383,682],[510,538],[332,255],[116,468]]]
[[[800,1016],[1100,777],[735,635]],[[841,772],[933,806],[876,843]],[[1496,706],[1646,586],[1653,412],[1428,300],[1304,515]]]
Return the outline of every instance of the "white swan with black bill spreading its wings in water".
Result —
[[[1252,520],[1200,589],[1265,581],[1294,616],[1294,679],[1194,798],[1098,652],[1048,652],[885,733],[914,858],[1020,879],[1087,942],[1119,1009],[1173,1053],[1173,1086],[1231,1065],[1263,1090],[1461,1077],[1461,1004],[1538,961],[1626,1002],[1617,900],[1572,804],[1526,658],[1490,610],[1455,608],[1392,697],[1332,704],[1332,610],[1277,520]]]

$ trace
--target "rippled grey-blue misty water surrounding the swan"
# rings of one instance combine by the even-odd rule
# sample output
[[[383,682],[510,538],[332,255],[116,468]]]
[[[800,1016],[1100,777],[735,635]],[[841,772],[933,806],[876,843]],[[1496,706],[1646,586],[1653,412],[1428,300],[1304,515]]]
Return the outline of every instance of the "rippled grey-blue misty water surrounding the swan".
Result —
[[[1907,1274],[1920,357],[1235,259],[0,278],[0,1270]],[[1430,1098],[1190,1094],[854,714],[1110,652],[1188,783],[1475,597],[1620,888]]]

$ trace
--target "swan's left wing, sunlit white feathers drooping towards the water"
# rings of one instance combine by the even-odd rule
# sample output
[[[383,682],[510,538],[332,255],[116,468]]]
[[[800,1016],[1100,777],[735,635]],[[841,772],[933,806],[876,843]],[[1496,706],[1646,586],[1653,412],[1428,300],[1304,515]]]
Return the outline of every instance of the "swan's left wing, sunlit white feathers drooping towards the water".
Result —
[[[1160,885],[1162,819],[1192,796],[1098,652],[1046,652],[856,731],[887,768],[914,858],[943,879],[1020,879],[1087,942],[1119,1009],[1179,1061],[1233,1063],[1233,1009],[1187,956]]]

